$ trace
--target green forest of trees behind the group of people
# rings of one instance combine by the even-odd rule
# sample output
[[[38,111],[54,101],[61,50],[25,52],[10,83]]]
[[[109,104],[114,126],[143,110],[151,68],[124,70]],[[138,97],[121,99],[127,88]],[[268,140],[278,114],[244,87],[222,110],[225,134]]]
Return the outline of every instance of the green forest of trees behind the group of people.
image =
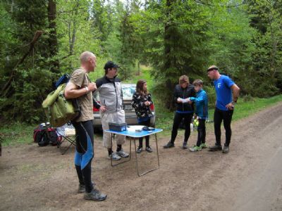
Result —
[[[107,60],[124,81],[148,67],[154,98],[168,110],[180,75],[203,79],[214,101],[210,65],[241,97],[281,94],[281,17],[278,0],[2,0],[0,122],[44,120],[42,101],[82,51],[97,56],[92,79]]]

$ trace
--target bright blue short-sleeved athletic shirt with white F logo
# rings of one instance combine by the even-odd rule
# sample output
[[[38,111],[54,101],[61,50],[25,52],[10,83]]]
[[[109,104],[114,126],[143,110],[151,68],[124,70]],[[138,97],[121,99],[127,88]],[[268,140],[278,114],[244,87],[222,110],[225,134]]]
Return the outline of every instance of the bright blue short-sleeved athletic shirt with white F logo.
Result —
[[[235,84],[233,80],[221,75],[219,79],[214,80],[214,88],[216,89],[216,108],[219,110],[228,110],[226,105],[232,102],[232,85]]]

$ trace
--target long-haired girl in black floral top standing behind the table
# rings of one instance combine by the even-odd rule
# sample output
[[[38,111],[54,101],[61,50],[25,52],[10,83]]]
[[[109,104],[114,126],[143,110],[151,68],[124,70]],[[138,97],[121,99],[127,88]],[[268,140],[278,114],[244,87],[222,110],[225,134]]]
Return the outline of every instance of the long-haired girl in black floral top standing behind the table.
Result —
[[[152,96],[147,91],[147,82],[144,79],[139,79],[136,84],[136,92],[133,94],[131,105],[135,108],[137,115],[137,121],[140,125],[149,127],[152,112],[150,106],[152,105]],[[149,146],[149,136],[145,136],[146,139],[146,151],[152,153],[152,148]],[[139,138],[139,146],[137,153],[142,152],[143,138]]]

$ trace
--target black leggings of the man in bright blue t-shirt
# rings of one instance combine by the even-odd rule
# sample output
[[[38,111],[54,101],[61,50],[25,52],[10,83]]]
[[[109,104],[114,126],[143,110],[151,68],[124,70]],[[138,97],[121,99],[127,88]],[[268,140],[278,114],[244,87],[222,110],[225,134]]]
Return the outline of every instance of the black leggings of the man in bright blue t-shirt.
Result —
[[[221,145],[221,122],[223,120],[223,126],[225,129],[226,141],[224,146],[229,146],[231,141],[231,120],[233,110],[214,110],[214,134],[216,135],[216,144]]]

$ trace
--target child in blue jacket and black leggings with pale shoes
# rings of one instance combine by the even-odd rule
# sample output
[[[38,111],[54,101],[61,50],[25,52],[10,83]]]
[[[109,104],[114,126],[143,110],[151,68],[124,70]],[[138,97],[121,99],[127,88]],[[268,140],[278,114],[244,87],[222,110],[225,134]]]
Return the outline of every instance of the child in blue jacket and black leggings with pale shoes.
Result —
[[[201,151],[202,148],[207,148],[206,145],[206,120],[208,118],[208,102],[207,93],[202,89],[203,82],[201,79],[195,79],[193,82],[194,89],[197,93],[196,97],[190,97],[190,101],[196,104],[196,115],[198,117],[199,125],[197,145],[189,150],[191,152]]]

